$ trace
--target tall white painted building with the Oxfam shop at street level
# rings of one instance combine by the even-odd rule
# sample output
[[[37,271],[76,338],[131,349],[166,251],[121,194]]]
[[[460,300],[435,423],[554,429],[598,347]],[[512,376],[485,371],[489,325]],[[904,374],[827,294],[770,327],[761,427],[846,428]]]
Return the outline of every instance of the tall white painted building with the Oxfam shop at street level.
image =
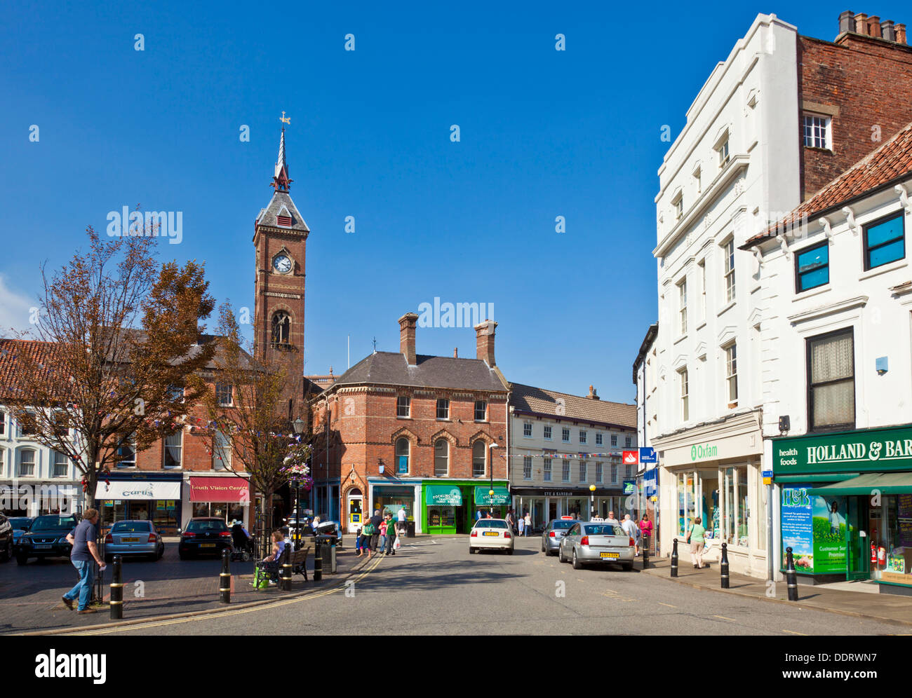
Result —
[[[657,423],[663,555],[701,518],[718,559],[764,576],[759,279],[739,247],[799,202],[796,30],[758,15],[658,169]],[[779,214],[782,215],[782,214]]]

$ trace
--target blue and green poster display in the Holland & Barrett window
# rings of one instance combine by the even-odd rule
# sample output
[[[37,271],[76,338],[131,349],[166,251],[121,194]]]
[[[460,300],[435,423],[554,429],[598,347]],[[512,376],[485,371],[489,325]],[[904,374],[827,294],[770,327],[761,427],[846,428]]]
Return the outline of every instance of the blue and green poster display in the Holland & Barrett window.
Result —
[[[845,572],[845,497],[810,495],[811,487],[782,488],[782,566],[792,548],[799,572]]]

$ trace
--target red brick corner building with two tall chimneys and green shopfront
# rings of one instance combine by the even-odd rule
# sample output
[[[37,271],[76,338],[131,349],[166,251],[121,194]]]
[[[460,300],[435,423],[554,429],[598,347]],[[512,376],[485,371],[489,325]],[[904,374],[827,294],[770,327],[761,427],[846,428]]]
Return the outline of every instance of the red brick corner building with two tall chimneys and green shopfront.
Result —
[[[415,529],[466,532],[474,512],[509,504],[507,384],[494,328],[475,327],[476,357],[416,352],[416,313],[399,318],[399,353],[374,352],[311,402],[316,507],[349,531],[368,512],[405,508]]]

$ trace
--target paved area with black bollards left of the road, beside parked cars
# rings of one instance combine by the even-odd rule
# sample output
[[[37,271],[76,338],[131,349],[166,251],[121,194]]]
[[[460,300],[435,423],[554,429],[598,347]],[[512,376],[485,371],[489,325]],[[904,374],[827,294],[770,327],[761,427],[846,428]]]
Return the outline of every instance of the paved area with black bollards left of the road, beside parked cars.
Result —
[[[295,575],[290,592],[277,587],[254,590],[254,562],[232,562],[231,608],[251,603],[268,603],[300,596],[340,584],[344,578],[364,566],[367,558],[358,558],[354,548],[337,549],[337,573],[329,574],[324,561],[323,580],[314,581],[314,558],[308,556],[309,581]],[[123,620],[136,621],[174,614],[207,613],[228,608],[219,600],[221,559],[181,560],[177,543],[166,539],[165,554],[160,560],[125,559]],[[76,570],[68,559],[30,560],[26,566],[15,561],[0,564],[0,634],[84,629],[98,624],[116,623],[110,619],[109,587],[111,566],[105,575],[105,605],[96,613],[79,615],[69,611],[60,597],[78,581]]]

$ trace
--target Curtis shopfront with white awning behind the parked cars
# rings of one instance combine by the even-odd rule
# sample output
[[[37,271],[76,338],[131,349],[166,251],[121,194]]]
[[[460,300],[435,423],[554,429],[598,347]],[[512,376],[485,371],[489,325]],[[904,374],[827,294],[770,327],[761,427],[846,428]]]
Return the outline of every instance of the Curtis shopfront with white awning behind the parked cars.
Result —
[[[143,520],[151,521],[165,535],[175,535],[181,526],[179,473],[111,475],[98,481],[95,500],[104,528],[115,521]]]

